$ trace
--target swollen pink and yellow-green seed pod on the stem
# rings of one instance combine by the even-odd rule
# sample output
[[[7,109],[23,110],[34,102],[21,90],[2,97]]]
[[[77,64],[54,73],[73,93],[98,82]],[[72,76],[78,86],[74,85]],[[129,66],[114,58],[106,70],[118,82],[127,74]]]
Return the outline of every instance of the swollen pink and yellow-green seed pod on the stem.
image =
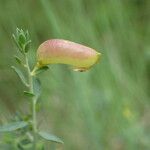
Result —
[[[37,50],[38,65],[68,64],[75,71],[86,71],[100,58],[100,53],[87,46],[62,39],[51,39]]]

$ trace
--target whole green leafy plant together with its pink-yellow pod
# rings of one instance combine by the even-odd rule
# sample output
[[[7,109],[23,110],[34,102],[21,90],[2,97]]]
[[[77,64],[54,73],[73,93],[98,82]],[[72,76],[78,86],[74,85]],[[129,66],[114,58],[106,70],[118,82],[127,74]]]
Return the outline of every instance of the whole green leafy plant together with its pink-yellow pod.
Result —
[[[99,60],[101,54],[81,44],[67,40],[52,39],[45,41],[39,46],[37,62],[32,69],[29,63],[29,45],[31,40],[28,31],[17,28],[13,39],[21,54],[21,57],[14,56],[14,58],[20,65],[20,68],[22,67],[26,71],[26,74],[15,66],[12,66],[12,69],[26,87],[24,94],[31,99],[32,109],[29,114],[17,114],[11,123],[0,126],[0,133],[4,135],[11,133],[9,136],[7,135],[3,145],[15,150],[44,150],[45,147],[41,138],[63,144],[59,137],[38,129],[36,107],[41,93],[41,83],[38,79],[38,74],[48,70],[48,65],[50,64],[68,64],[73,66],[75,71],[86,71]]]

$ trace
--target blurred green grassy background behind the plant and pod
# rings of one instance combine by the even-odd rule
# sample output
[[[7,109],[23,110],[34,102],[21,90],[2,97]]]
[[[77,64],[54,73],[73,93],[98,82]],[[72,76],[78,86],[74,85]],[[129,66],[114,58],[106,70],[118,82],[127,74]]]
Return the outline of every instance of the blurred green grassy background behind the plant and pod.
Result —
[[[102,53],[90,71],[52,65],[40,75],[40,128],[63,139],[60,149],[150,149],[150,0],[0,0],[0,123],[28,110],[10,68],[16,27],[30,32],[31,64],[50,38]]]

